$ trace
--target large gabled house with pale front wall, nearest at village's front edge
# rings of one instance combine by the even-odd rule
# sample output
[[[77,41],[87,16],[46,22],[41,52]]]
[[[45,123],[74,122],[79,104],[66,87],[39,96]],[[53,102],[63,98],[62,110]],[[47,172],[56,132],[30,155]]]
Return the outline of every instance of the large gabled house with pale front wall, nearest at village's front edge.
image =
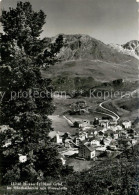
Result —
[[[92,145],[90,142],[82,142],[79,147],[79,157],[94,159],[96,157],[96,146]]]

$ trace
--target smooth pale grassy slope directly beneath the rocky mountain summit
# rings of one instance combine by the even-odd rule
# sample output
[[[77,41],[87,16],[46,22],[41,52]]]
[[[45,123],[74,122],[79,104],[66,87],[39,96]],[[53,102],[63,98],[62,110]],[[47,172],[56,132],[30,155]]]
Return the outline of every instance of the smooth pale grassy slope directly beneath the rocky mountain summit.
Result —
[[[48,71],[42,71],[44,77],[56,78],[58,76],[93,77],[96,81],[112,81],[115,79],[137,80],[138,61],[122,61],[121,63],[103,62],[97,60],[77,60],[56,64]]]

